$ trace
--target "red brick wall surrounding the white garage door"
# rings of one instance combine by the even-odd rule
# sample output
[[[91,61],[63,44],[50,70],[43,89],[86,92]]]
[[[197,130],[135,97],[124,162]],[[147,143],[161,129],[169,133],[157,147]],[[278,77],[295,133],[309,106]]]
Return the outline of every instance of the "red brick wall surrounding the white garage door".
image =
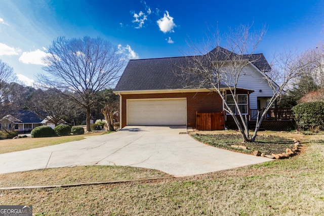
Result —
[[[138,94],[122,95],[121,97],[121,127],[127,124],[127,99],[149,98],[186,98],[187,99],[187,126],[196,126],[196,111],[198,112],[221,112],[223,104],[220,96],[212,92],[199,93],[170,93],[170,94]]]

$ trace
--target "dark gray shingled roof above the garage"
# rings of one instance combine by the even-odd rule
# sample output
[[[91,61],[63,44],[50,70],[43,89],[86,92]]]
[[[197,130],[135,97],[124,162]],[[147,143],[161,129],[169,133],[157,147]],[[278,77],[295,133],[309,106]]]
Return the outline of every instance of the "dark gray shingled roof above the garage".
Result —
[[[210,53],[215,51],[216,48]],[[222,51],[226,52],[227,50],[223,49]],[[234,53],[232,54],[237,55]],[[175,72],[180,73],[180,69],[175,65],[185,64],[188,62],[188,58],[193,57],[130,60],[114,92],[184,89],[183,82],[175,75]],[[255,54],[253,58],[253,64],[260,70],[270,69],[263,54]],[[224,59],[220,56],[218,60],[222,61]]]

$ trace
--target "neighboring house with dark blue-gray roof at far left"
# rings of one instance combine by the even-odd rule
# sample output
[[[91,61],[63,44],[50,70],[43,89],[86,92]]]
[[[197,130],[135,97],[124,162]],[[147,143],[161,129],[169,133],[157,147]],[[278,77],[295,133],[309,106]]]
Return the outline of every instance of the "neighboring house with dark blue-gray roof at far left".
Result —
[[[65,123],[65,121],[62,120],[61,123]],[[7,115],[0,119],[0,129],[15,129],[18,132],[29,132],[33,128],[42,125],[53,127],[52,122],[29,110],[18,110],[16,114]]]

